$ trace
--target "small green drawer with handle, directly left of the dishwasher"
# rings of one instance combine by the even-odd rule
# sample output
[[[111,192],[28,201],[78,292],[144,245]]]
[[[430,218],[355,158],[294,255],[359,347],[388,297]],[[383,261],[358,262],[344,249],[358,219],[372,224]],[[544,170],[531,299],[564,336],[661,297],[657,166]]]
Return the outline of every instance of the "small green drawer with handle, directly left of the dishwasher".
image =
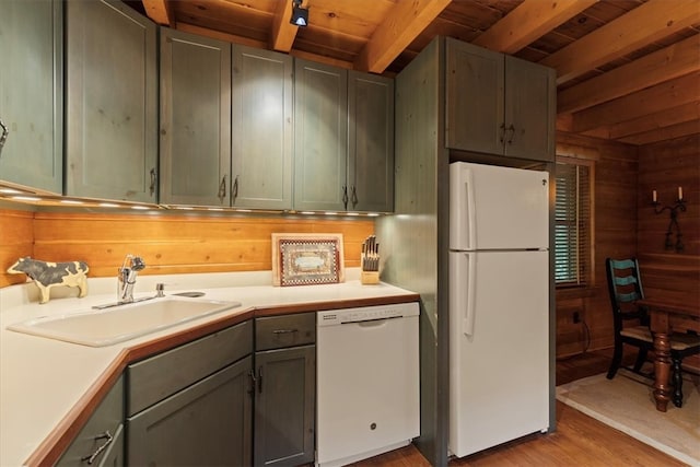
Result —
[[[316,342],[316,313],[266,316],[255,319],[255,350]]]

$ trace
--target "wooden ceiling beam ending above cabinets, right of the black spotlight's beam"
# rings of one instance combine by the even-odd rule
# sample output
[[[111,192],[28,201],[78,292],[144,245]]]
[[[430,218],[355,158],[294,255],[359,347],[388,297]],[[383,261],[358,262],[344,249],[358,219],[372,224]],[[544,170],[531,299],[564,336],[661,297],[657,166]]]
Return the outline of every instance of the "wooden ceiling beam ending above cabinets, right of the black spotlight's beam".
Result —
[[[384,72],[450,3],[451,0],[397,1],[358,55],[354,69]]]

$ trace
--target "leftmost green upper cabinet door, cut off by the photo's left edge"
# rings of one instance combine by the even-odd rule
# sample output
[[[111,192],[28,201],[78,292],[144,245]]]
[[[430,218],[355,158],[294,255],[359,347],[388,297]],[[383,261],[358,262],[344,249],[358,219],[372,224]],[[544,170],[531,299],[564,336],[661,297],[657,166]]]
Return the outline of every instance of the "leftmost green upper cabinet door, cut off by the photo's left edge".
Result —
[[[0,179],[55,194],[63,183],[62,24],[60,0],[2,2]]]

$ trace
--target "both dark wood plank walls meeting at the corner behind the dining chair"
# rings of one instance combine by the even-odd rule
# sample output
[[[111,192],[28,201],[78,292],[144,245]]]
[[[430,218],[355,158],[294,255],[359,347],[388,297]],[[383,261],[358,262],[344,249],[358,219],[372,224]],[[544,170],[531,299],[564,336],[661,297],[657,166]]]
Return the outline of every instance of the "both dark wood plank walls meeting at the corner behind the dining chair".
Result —
[[[612,346],[612,318],[605,258],[637,256],[646,295],[700,306],[700,137],[631,147],[558,133],[558,143],[595,148],[595,282],[586,290],[557,292],[557,355]],[[675,200],[682,186],[687,211],[678,215],[684,252],[664,248],[668,211],[654,214],[660,201]],[[675,241],[675,237],[674,237]],[[583,323],[573,323],[579,312]],[[687,359],[700,366],[700,359]]]

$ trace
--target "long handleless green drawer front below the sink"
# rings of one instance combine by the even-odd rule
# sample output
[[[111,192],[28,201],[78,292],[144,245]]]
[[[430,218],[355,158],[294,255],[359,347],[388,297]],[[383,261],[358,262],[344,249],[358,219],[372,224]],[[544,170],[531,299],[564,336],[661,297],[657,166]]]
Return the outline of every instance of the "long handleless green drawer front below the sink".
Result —
[[[241,323],[128,366],[127,417],[250,354],[253,324]]]

